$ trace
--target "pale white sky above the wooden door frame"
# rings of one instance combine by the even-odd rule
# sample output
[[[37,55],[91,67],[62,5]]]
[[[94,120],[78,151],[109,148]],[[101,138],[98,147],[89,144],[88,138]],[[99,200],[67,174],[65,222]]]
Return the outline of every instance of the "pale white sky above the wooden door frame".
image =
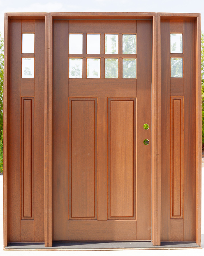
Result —
[[[182,12],[201,13],[204,0],[0,0],[0,32],[5,12]]]

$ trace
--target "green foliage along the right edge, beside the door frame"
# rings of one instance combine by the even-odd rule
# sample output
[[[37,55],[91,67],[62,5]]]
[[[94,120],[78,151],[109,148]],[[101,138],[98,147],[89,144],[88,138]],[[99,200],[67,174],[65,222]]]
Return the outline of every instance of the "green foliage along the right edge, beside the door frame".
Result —
[[[204,34],[201,34],[201,79],[202,79],[202,150],[204,148]]]

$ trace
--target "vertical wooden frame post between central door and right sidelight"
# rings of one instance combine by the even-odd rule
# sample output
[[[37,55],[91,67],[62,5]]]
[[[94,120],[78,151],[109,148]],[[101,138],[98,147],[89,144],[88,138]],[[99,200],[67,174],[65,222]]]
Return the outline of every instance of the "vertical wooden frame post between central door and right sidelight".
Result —
[[[152,24],[152,244],[161,244],[161,32],[160,16]]]

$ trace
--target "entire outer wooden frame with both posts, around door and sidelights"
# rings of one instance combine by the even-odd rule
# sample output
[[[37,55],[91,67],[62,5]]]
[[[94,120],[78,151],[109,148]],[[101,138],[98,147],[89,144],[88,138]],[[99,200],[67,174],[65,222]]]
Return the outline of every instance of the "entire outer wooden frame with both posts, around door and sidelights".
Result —
[[[152,244],[161,242],[161,19],[194,20],[196,31],[196,243],[201,245],[201,30],[200,14],[183,13],[6,13],[4,30],[4,248],[9,243],[9,65],[10,20],[45,20],[45,247],[53,242],[52,209],[52,56],[53,20],[152,20]]]

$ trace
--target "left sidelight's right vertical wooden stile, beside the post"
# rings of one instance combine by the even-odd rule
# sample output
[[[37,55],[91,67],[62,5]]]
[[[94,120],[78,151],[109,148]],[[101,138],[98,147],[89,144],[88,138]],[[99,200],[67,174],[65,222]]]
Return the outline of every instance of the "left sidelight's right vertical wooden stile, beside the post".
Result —
[[[44,229],[44,118],[45,107],[45,20],[35,21],[34,107],[34,241],[45,241]],[[21,84],[22,86],[22,84]]]

